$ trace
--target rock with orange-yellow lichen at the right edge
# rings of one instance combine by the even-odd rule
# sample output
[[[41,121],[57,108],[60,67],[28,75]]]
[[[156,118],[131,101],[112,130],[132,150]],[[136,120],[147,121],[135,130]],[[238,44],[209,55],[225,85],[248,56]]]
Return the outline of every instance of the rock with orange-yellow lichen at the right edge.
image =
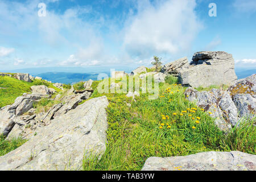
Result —
[[[228,91],[232,97],[236,94],[250,94],[256,98],[256,74],[237,80],[234,85],[229,87]]]

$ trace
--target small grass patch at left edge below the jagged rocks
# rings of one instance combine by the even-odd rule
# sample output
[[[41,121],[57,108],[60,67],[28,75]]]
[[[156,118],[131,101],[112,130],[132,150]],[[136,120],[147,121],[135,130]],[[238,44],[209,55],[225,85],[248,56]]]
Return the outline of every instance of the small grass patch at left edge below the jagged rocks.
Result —
[[[15,150],[25,142],[26,140],[22,140],[22,138],[12,138],[10,140],[5,140],[5,137],[0,135],[0,156]]]

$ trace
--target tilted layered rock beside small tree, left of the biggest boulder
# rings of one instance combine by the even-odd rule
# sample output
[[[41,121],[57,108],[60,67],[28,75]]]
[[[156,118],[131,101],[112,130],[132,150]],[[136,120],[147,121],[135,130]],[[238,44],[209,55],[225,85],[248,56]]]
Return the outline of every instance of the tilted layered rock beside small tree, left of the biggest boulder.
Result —
[[[178,76],[180,69],[184,66],[188,66],[188,59],[187,57],[183,57],[171,63],[168,63],[163,66],[161,72]]]

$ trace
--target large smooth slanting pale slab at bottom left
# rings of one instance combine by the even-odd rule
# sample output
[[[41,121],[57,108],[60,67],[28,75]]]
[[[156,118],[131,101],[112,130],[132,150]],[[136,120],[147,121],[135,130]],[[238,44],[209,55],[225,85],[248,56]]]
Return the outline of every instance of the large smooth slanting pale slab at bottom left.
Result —
[[[76,170],[106,150],[105,96],[93,98],[53,119],[19,148],[0,156],[0,170]]]

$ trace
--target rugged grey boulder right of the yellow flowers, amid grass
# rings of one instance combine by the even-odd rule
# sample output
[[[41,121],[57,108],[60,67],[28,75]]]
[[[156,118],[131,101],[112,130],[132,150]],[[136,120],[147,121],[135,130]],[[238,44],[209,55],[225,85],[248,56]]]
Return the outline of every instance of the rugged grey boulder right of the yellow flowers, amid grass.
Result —
[[[228,131],[238,122],[237,107],[229,92],[212,89],[210,92],[199,92],[191,87],[185,90],[187,100],[207,111],[222,131]]]

